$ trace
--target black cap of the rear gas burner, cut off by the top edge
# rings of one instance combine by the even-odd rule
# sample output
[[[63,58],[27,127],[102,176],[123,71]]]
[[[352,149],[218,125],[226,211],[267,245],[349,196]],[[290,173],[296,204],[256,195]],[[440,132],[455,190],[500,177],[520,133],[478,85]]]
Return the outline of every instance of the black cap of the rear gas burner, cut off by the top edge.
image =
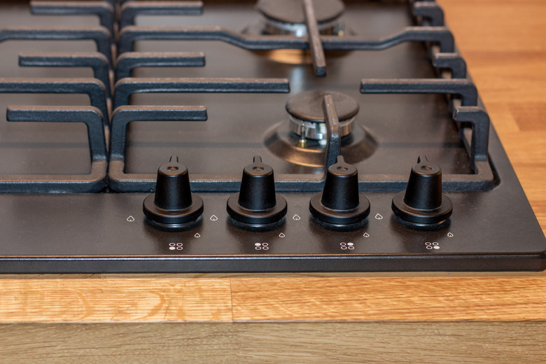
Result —
[[[301,0],[260,0],[256,8],[266,18],[286,23],[304,23],[305,14]],[[313,0],[316,21],[330,22],[343,13],[344,5],[339,0]]]

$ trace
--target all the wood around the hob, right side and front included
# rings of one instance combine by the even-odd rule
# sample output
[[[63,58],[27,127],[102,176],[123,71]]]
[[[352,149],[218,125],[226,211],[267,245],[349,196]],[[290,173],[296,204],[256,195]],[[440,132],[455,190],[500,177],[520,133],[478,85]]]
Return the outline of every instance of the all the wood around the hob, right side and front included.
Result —
[[[546,232],[546,3],[437,0]],[[0,276],[0,363],[545,363],[546,274]]]

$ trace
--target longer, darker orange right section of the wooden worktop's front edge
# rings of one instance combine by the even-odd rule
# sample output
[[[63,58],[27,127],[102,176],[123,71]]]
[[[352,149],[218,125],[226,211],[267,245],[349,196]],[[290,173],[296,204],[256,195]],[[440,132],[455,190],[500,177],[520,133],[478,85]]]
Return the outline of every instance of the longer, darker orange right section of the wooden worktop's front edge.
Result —
[[[546,321],[544,277],[232,279],[235,321]]]

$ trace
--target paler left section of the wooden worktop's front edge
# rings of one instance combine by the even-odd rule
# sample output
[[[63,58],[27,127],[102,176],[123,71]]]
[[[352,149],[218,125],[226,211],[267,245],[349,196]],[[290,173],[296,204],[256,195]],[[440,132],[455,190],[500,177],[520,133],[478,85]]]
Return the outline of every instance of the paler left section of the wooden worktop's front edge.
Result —
[[[2,279],[0,322],[232,321],[228,279]]]

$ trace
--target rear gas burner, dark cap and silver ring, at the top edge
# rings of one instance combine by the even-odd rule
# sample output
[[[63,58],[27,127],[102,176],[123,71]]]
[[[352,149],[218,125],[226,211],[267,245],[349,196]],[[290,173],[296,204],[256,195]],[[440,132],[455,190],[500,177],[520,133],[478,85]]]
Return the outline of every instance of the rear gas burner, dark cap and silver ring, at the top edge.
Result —
[[[342,35],[344,27],[339,22],[344,5],[339,0],[312,0],[321,34]],[[256,9],[262,14],[263,34],[292,34],[307,36],[303,1],[260,0]]]

